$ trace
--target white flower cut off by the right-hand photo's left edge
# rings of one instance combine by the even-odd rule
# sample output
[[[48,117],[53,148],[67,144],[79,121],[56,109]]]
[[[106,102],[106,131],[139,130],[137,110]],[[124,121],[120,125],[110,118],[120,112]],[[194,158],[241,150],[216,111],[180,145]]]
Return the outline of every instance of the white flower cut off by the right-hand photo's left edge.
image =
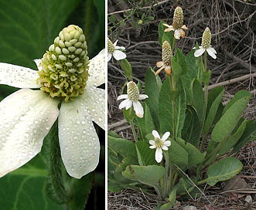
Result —
[[[125,59],[126,54],[125,52],[122,52],[121,50],[125,50],[124,46],[117,46],[118,40],[114,42],[114,44],[111,42],[111,39],[108,38],[108,62],[111,60],[111,57],[114,56],[114,59],[120,60]]]

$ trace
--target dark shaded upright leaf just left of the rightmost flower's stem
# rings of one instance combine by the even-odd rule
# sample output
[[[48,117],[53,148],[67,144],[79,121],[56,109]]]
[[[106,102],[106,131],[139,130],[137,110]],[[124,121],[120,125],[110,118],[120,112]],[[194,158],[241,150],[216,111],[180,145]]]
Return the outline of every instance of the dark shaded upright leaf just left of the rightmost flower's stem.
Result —
[[[186,118],[182,130],[182,137],[185,141],[198,146],[200,141],[200,120],[194,107],[186,107]]]

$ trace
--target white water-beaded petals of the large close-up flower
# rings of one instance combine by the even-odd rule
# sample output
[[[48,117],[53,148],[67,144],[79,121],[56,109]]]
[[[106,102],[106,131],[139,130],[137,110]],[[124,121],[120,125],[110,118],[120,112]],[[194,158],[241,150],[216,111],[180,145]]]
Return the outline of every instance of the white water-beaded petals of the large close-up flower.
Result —
[[[76,28],[77,26],[72,27]],[[59,36],[62,39],[62,36]],[[74,36],[77,36],[77,34]],[[83,45],[85,46],[86,43],[83,44],[82,42],[81,46]],[[53,51],[51,51],[53,48],[53,46],[49,47],[49,52],[45,54],[46,59],[49,59],[47,55],[53,55],[50,56],[52,59],[56,58]],[[55,45],[55,49],[57,48],[58,46]],[[73,48],[70,48],[70,50],[73,50]],[[79,54],[76,52],[76,55]],[[70,52],[70,54],[72,53]],[[81,56],[84,58],[86,56],[84,56],[83,51]],[[77,57],[79,56],[77,55]],[[61,55],[59,58],[64,59]],[[54,85],[53,90],[56,92],[43,93],[42,88],[49,88],[47,86],[48,82],[43,83],[41,78],[39,80],[38,73],[46,71],[46,69],[42,69],[43,59],[35,60],[39,71],[0,63],[0,83],[22,88],[0,103],[0,177],[26,164],[41,151],[43,139],[49,133],[49,129],[57,118],[60,151],[68,174],[73,178],[81,178],[97,167],[100,143],[93,121],[104,129],[105,91],[96,87],[104,83],[104,50],[90,59],[90,64],[88,64],[90,76],[87,79],[86,89],[81,90],[84,92],[68,102],[66,102],[68,98],[66,93],[62,93],[66,86],[61,87],[62,84],[60,86]],[[67,63],[67,66],[71,66],[70,63]],[[77,63],[77,66],[80,66],[80,64]],[[58,68],[59,66],[55,67]],[[49,69],[51,68],[49,66]],[[80,72],[85,71],[80,67],[77,68]],[[53,70],[53,73],[56,73],[56,69]],[[75,67],[70,70],[70,72],[73,71],[76,71]],[[82,73],[80,74],[82,75]],[[79,73],[76,75],[77,80],[80,80]],[[51,76],[53,80],[56,80],[53,74]],[[67,77],[63,76],[60,79],[64,81],[63,78]],[[71,78],[76,79],[72,76]],[[40,84],[37,83],[38,80]],[[40,87],[41,90],[29,89]],[[72,88],[70,86],[69,90]],[[57,91],[62,93],[60,98],[62,97],[63,100],[52,97],[51,94],[54,95]]]

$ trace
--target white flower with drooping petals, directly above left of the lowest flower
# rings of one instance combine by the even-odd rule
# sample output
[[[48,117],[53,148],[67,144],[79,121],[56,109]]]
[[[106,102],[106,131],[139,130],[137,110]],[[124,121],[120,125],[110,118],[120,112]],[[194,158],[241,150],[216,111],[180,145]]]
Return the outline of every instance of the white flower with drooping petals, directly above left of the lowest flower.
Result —
[[[144,100],[148,98],[148,96],[145,94],[139,94],[138,86],[132,81],[127,83],[127,93],[128,94],[123,94],[118,97],[118,100],[125,99],[119,104],[119,109],[123,109],[125,107],[125,109],[128,110],[131,105],[133,105],[136,115],[142,118],[144,110],[142,104],[138,100]]]

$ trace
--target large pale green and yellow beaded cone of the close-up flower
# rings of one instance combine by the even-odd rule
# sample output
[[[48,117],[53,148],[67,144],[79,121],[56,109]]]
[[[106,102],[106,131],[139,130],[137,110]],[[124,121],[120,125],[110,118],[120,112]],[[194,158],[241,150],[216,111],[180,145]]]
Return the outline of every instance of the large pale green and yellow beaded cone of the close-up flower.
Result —
[[[73,100],[84,93],[88,80],[87,43],[77,25],[64,28],[43,55],[38,82],[50,97]]]

